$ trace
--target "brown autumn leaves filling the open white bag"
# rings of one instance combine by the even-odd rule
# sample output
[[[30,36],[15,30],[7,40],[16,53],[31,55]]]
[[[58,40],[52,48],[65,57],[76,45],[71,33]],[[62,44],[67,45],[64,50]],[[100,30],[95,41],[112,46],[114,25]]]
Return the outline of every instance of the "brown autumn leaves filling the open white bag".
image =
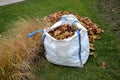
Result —
[[[57,40],[63,40],[65,38],[73,36],[76,29],[77,27],[75,25],[70,26],[69,24],[64,24],[52,31],[49,31],[49,34]]]

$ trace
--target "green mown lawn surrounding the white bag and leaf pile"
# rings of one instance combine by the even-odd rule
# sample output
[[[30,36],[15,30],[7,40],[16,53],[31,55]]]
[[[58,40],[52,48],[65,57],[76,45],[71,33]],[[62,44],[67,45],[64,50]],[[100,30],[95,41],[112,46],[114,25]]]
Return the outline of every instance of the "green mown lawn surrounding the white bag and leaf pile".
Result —
[[[95,42],[96,58],[89,57],[84,68],[62,67],[41,59],[35,75],[38,80],[119,80],[120,51],[115,32],[109,27],[111,22],[101,17],[100,0],[26,0],[13,5],[0,7],[0,33],[12,28],[12,23],[19,17],[41,18],[56,11],[71,11],[89,17],[100,25],[105,33],[102,39]],[[100,66],[107,64],[106,69]]]

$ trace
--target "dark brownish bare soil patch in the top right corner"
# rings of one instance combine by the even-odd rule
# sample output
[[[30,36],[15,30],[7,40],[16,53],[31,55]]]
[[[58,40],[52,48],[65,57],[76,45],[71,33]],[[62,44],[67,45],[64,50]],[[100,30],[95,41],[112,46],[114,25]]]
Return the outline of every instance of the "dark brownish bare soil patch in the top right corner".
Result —
[[[120,39],[120,0],[102,0],[101,16],[108,21],[116,37]]]

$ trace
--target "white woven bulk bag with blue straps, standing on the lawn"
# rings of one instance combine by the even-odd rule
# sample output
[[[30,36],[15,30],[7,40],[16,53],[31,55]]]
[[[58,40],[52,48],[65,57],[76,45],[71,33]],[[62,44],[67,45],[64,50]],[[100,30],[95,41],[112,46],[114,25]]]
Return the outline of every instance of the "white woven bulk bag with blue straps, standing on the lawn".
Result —
[[[81,30],[77,30],[72,37],[63,40],[56,40],[48,33],[63,24],[74,24]],[[49,62],[63,66],[83,67],[89,56],[89,39],[87,30],[74,15],[63,15],[58,22],[44,29],[43,32],[45,54]]]

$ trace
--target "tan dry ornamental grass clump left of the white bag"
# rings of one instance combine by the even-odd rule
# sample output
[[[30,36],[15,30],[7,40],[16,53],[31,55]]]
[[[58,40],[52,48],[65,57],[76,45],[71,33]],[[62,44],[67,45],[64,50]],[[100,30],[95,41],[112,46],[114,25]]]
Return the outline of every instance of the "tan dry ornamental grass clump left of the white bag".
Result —
[[[0,38],[0,80],[33,80],[33,62],[43,55],[44,48],[42,33],[32,38],[27,34],[48,25],[45,25],[45,19],[38,22],[20,18],[14,26]]]

